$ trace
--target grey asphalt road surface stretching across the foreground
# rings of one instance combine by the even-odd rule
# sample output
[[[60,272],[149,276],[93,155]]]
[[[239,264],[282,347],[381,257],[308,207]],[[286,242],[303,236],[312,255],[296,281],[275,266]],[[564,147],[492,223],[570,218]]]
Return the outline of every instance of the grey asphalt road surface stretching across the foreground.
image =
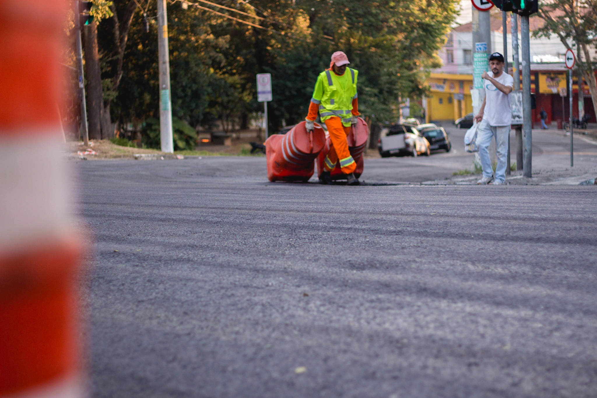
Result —
[[[72,165],[93,397],[597,396],[597,187]]]

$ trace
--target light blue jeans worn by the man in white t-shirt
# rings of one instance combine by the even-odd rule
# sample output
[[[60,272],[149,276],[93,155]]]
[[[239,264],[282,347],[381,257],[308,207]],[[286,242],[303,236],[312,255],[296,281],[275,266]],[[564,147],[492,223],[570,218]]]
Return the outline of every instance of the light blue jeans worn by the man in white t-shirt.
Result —
[[[477,130],[477,145],[479,147],[479,158],[483,168],[483,177],[491,177],[491,159],[489,157],[489,146],[491,138],[496,137],[497,167],[495,179],[504,182],[506,180],[506,162],[508,160],[508,135],[510,126],[490,126],[489,122],[482,120]]]

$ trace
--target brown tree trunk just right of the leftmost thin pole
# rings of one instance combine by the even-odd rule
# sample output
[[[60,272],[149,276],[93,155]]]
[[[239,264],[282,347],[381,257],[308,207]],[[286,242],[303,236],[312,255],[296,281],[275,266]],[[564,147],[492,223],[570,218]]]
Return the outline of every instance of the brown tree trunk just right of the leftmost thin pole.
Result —
[[[101,93],[100,57],[97,52],[97,23],[85,26],[85,77],[87,77],[87,120],[89,138],[100,140],[103,95]]]

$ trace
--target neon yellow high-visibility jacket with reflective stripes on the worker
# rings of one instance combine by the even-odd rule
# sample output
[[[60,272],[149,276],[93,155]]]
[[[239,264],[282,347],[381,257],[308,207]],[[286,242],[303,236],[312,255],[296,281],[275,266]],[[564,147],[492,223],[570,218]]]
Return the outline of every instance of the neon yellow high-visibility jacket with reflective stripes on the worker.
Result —
[[[319,116],[322,122],[338,116],[344,126],[350,126],[352,100],[358,97],[356,92],[358,76],[359,71],[352,68],[346,68],[346,72],[341,76],[329,69],[319,73],[311,102],[319,104]]]

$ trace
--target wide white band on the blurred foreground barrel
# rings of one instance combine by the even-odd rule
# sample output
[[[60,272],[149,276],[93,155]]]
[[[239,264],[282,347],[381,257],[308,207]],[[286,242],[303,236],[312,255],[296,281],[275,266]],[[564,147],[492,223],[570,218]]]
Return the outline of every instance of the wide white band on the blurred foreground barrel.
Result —
[[[72,231],[72,198],[60,135],[0,134],[0,252]]]

